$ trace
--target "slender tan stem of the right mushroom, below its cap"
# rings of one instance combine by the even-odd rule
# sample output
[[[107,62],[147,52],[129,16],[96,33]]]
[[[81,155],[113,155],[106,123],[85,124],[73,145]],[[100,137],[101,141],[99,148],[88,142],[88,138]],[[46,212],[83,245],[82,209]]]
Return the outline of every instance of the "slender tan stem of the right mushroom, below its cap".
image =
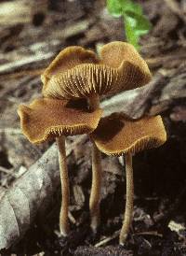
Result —
[[[126,237],[129,232],[130,224],[133,215],[133,198],[134,198],[134,183],[133,183],[133,169],[132,169],[132,154],[126,153],[126,211],[124,215],[124,222],[121,229],[119,242],[124,245]]]

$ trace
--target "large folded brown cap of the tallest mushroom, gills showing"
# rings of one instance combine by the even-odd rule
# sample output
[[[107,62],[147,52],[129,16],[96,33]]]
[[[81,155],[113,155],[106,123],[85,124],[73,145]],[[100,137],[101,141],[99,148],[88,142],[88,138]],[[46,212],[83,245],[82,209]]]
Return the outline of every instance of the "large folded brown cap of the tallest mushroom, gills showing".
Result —
[[[147,64],[128,43],[107,44],[100,55],[99,60],[94,52],[80,47],[60,51],[42,76],[44,96],[87,98],[131,90],[151,79]]]

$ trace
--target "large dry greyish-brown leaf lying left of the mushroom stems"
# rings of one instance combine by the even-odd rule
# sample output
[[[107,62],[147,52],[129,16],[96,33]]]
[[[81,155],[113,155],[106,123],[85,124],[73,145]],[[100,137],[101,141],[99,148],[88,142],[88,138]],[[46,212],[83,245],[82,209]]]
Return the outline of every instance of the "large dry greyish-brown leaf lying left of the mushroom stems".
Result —
[[[72,149],[67,149],[67,155]],[[9,248],[25,234],[36,214],[48,206],[58,185],[58,151],[53,145],[1,198],[0,249]]]

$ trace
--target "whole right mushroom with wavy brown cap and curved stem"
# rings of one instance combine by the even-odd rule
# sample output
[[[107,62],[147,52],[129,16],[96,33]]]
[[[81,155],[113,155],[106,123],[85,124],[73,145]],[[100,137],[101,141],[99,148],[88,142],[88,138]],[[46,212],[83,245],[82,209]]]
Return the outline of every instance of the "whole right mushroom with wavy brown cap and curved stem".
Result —
[[[166,142],[166,130],[160,116],[128,120],[120,113],[100,120],[97,129],[90,135],[100,151],[108,155],[125,155],[126,159],[126,211],[120,233],[124,245],[133,215],[133,169],[132,155],[143,149],[153,149]]]

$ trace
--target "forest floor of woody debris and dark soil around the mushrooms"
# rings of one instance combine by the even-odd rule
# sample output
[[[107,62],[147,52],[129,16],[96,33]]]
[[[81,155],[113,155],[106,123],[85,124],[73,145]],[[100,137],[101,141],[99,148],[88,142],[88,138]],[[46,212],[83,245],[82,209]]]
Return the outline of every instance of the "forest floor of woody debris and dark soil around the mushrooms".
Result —
[[[20,11],[3,15],[1,9],[10,3]],[[126,246],[118,246],[126,193],[121,159],[102,155],[100,230],[97,235],[89,230],[91,145],[83,136],[68,157],[70,236],[59,235],[59,184],[45,218],[35,218],[2,255],[186,255],[186,5],[184,0],[140,3],[153,24],[140,40],[141,54],[154,76],[169,81],[153,93],[148,114],[162,114],[168,139],[163,147],[134,157],[134,220]],[[67,46],[97,50],[113,40],[125,40],[124,25],[107,13],[104,1],[0,3],[0,198],[51,147],[30,144],[17,115],[20,103],[41,94],[40,74],[47,64]],[[68,144],[74,141],[69,138]]]

